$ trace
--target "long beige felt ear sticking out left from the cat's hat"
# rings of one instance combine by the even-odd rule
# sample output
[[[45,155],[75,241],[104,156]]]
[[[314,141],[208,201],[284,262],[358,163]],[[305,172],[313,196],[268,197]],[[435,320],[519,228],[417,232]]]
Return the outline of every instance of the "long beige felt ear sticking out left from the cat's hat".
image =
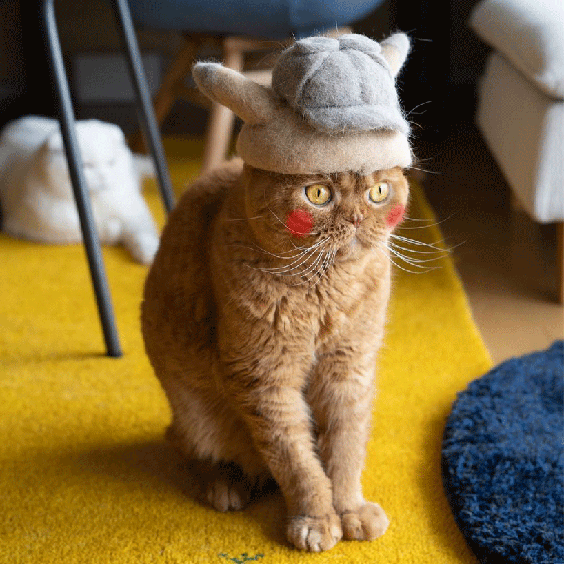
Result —
[[[205,96],[226,105],[245,123],[264,125],[272,120],[276,111],[274,94],[241,72],[218,63],[196,63],[192,76]]]

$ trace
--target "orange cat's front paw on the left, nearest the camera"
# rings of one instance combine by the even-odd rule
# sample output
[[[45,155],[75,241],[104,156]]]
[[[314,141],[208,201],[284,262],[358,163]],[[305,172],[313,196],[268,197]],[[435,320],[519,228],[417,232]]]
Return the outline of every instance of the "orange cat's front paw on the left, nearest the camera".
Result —
[[[334,547],[343,537],[343,531],[339,516],[336,514],[321,518],[290,517],[286,536],[296,548],[321,552]]]

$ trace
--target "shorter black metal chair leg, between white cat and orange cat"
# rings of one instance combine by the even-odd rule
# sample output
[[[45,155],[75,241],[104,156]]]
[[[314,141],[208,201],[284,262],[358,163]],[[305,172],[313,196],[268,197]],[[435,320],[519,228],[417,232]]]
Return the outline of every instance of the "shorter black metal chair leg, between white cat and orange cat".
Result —
[[[131,20],[131,12],[127,0],[112,0],[114,12],[118,23],[121,39],[128,55],[128,65],[132,77],[135,93],[137,94],[137,112],[141,121],[141,129],[145,134],[145,141],[150,148],[154,165],[157,169],[157,177],[161,188],[161,196],[165,205],[165,210],[170,212],[174,208],[174,193],[170,183],[170,175],[161,142],[161,135],[157,120],[154,117],[152,100],[145,79],[139,45],[135,37],[135,30]]]

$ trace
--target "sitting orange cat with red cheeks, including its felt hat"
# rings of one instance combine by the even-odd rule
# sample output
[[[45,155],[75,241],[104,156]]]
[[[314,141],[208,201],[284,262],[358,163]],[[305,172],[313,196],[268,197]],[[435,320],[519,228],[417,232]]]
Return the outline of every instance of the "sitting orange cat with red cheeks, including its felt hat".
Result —
[[[408,50],[404,34],[303,39],[281,55],[272,88],[198,63],[202,92],[244,121],[244,162],[188,189],[145,285],[168,436],[199,463],[205,499],[241,509],[273,477],[288,540],[304,550],[388,525],[361,473],[388,239],[407,205],[395,77]]]

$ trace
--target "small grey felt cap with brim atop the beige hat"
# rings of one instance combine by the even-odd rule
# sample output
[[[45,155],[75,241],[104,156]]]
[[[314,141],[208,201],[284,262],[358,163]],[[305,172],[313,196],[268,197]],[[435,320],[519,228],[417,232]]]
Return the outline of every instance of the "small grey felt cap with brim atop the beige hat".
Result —
[[[297,41],[276,63],[272,90],[325,133],[410,132],[392,69],[380,44],[364,35]]]

